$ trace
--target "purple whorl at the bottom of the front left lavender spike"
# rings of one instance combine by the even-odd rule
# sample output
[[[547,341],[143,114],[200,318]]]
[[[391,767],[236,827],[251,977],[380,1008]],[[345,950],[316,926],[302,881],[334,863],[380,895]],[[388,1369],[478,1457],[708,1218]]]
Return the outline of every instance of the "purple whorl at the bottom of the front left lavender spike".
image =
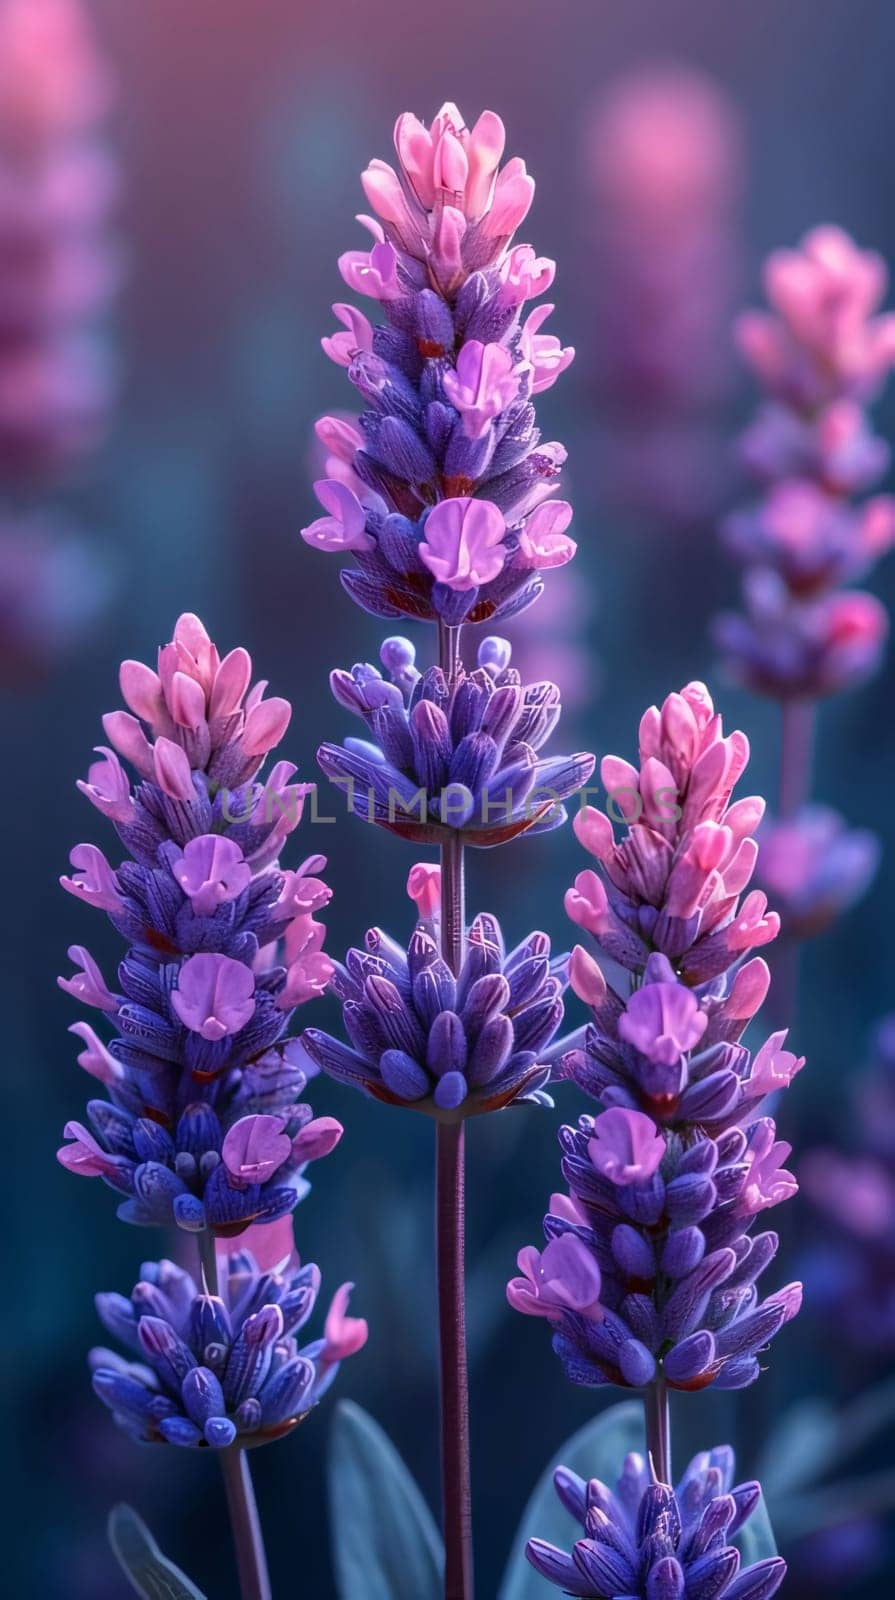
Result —
[[[93,1350],[93,1387],[146,1443],[226,1450],[282,1438],[367,1341],[367,1323],[346,1315],[351,1288],[338,1290],[323,1338],[299,1346],[320,1290],[315,1266],[293,1256],[259,1272],[243,1250],[229,1258],[223,1293],[210,1294],[171,1261],[147,1262],[130,1298],[96,1296],[104,1326],[138,1360]]]

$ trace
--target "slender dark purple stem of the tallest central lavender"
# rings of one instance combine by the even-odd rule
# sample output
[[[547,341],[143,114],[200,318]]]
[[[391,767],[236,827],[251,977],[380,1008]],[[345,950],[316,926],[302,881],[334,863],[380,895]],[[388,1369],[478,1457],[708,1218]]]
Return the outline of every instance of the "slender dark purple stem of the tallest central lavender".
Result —
[[[439,666],[448,683],[460,672],[460,629],[439,622]],[[463,966],[466,890],[463,840],[442,845],[442,955]],[[442,1405],[442,1501],[445,1600],[472,1600],[472,1494],[469,1485],[469,1381],[466,1366],[464,1126],[435,1123],[435,1272]]]

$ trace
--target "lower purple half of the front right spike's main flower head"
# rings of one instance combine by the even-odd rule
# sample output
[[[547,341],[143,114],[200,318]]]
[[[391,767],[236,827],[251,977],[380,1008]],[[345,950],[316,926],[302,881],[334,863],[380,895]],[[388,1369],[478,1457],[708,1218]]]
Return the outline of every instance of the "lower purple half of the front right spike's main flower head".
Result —
[[[688,1390],[754,1382],[759,1352],[801,1306],[799,1283],[767,1299],[757,1293],[778,1240],[749,1238],[749,1229],[796,1192],[773,1122],[688,1142],[644,1112],[610,1109],[559,1138],[570,1195],[552,1197],[548,1246],[520,1251],[508,1299],[551,1323],[570,1381],[642,1389],[663,1378]],[[557,1259],[568,1238],[575,1254]]]

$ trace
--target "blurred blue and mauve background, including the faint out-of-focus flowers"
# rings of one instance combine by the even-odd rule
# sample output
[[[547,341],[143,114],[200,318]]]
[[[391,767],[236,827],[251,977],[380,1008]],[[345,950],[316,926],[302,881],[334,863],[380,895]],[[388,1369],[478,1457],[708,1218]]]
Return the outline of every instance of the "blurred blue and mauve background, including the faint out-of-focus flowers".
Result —
[[[120,1597],[104,1518],[123,1494],[218,1597],[232,1579],[215,1462],[168,1451],[162,1464],[131,1446],[85,1371],[99,1331],[93,1293],[128,1290],[139,1262],[173,1245],[122,1227],[112,1197],[72,1182],[53,1154],[86,1098],[66,1032],[77,1011],[54,976],[70,942],[90,942],[112,968],[118,954],[112,930],[56,885],[70,846],[99,837],[74,782],[101,714],[118,704],[117,662],[152,661],[178,613],[195,610],[223,648],[247,645],[272,691],[295,701],[283,754],[303,776],[314,776],[317,742],[341,738],[327,674],[376,659],[387,629],[343,597],[338,563],[298,538],[315,515],[314,418],[346,403],[319,344],[344,294],[336,256],[357,245],[359,173],[389,157],[399,110],[429,118],[455,99],[472,118],[488,106],[536,178],[522,237],[559,262],[554,326],[578,350],[540,418],[570,451],[580,557],[573,579],[559,574],[514,626],[517,659],[562,685],[560,744],[600,755],[629,757],[642,709],[706,678],[728,725],[753,741],[749,787],[772,787],[775,710],[722,683],[708,637],[736,592],[716,525],[743,494],[733,438],[756,403],[730,317],[757,301],[767,251],[815,222],[839,222],[895,259],[895,13],[885,0],[453,0],[437,13],[410,0],[93,0],[86,38],[38,37],[5,59],[11,3],[0,0],[0,168],[21,141],[56,139],[59,162],[75,152],[82,163],[66,190],[82,210],[78,251],[53,285],[56,342],[11,381],[0,376],[0,986],[16,1171],[3,1296],[6,1502],[18,1531],[8,1592]],[[51,230],[53,206],[50,186],[22,226]],[[3,181],[0,250],[16,218]],[[3,341],[6,322],[0,352]],[[892,438],[895,394],[877,424]],[[892,608],[895,562],[873,582]],[[893,688],[889,662],[821,718],[817,792],[876,830],[882,866],[866,899],[805,952],[793,1037],[810,1070],[783,1114],[796,1160],[817,1144],[847,1147],[853,1085],[893,1003]],[[322,813],[338,821],[304,850],[330,856],[328,949],[339,954],[373,923],[403,939],[413,853],[338,805]],[[560,947],[562,891],[580,866],[568,830],[477,854],[471,909],[500,912],[512,942],[541,926]],[[327,1008],[315,1008],[319,1026],[333,1021]],[[330,1285],[355,1280],[370,1344],[344,1392],[351,1384],[384,1424],[435,1504],[432,1130],[328,1082],[312,1101],[346,1136],[296,1214],[299,1250]],[[469,1136],[484,1597],[496,1592],[546,1459],[616,1398],[572,1389],[544,1330],[504,1301],[516,1251],[540,1238],[557,1186],[556,1128],[580,1109],[565,1090],[556,1112],[482,1118]],[[807,1198],[786,1210],[780,1282],[810,1266],[825,1227]],[[855,1344],[821,1314],[821,1293],[823,1283],[777,1342],[761,1400],[682,1402],[680,1462],[688,1443],[730,1440],[749,1475],[796,1402],[844,1406],[885,1376],[892,1349]],[[327,1411],[255,1458],[277,1594],[331,1594]],[[845,1462],[852,1483],[871,1477],[876,1488],[869,1502],[833,1496],[829,1547],[799,1549],[796,1528],[788,1549],[781,1534],[796,1562],[786,1594],[871,1595],[893,1576],[885,1437]],[[852,1576],[836,1566],[844,1550]],[[834,1574],[829,1589],[818,1573]]]

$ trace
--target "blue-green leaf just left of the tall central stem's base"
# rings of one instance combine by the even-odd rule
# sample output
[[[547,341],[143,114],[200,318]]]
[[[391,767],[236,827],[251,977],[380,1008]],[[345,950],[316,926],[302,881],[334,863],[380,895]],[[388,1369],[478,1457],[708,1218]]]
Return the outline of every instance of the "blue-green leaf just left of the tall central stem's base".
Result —
[[[339,1600],[440,1600],[432,1514],[389,1437],[351,1400],[336,1406],[327,1478]]]

